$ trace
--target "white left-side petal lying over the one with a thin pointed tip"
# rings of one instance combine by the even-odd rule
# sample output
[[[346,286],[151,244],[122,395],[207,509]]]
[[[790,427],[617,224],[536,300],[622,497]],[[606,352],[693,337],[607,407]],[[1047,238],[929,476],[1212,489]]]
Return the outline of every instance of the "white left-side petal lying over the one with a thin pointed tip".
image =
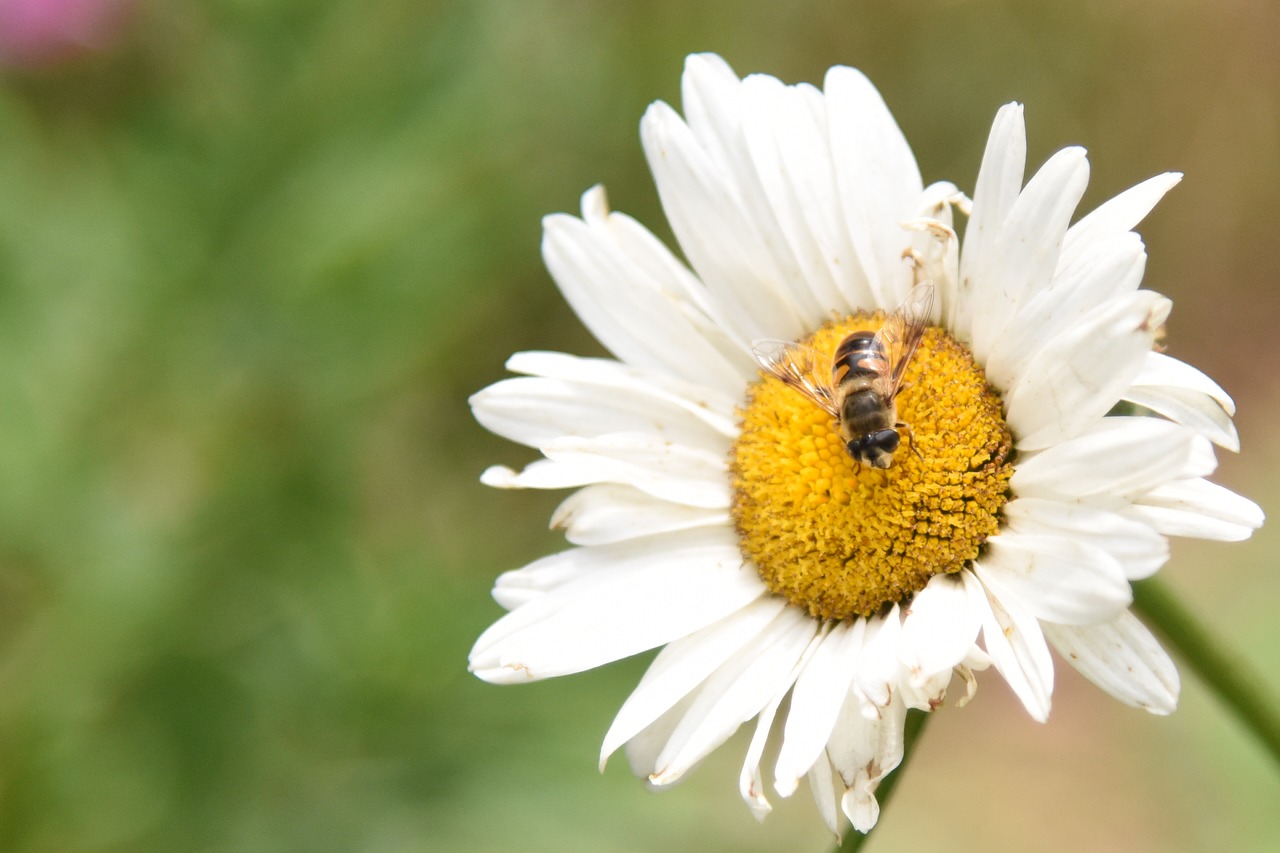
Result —
[[[596,483],[627,483],[689,506],[723,508],[730,503],[724,453],[681,447],[641,433],[557,438],[544,444],[543,452],[571,470],[594,470]]]

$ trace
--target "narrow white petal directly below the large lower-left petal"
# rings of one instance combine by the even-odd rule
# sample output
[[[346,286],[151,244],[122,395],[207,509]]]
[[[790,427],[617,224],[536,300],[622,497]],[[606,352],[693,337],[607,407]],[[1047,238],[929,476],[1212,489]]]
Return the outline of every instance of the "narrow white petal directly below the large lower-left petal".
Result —
[[[762,597],[689,637],[667,644],[649,665],[640,684],[622,703],[600,747],[600,770],[623,743],[676,706],[751,638],[773,622],[786,602]]]

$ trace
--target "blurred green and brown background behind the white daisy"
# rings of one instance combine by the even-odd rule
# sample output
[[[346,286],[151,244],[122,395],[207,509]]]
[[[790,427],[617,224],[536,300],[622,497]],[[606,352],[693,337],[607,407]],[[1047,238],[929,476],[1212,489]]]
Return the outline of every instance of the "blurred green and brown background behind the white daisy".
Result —
[[[0,77],[0,849],[820,850],[758,826],[745,742],[653,794],[599,742],[645,661],[466,672],[559,494],[466,398],[600,348],[539,259],[588,186],[663,237],[637,122],[682,58],[872,77],[927,181],[996,109],[1142,227],[1170,351],[1240,403],[1219,480],[1280,508],[1280,10],[1151,3],[155,0],[109,49]],[[1275,525],[1169,581],[1280,685]],[[1125,708],[1060,665],[940,715],[873,849],[1271,850],[1280,776],[1184,672]]]

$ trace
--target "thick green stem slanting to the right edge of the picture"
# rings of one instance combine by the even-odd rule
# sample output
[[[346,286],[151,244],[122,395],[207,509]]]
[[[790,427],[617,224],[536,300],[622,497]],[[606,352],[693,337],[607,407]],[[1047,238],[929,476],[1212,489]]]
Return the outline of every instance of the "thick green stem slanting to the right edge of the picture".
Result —
[[[1135,583],[1133,603],[1280,763],[1280,701],[1267,694],[1262,680],[1228,653],[1160,579]]]

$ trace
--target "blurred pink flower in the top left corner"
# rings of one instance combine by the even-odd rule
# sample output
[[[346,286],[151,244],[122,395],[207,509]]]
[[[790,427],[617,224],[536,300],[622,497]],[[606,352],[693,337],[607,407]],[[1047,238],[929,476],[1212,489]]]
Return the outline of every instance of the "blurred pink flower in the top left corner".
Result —
[[[132,0],[0,0],[0,61],[50,65],[110,45]]]

